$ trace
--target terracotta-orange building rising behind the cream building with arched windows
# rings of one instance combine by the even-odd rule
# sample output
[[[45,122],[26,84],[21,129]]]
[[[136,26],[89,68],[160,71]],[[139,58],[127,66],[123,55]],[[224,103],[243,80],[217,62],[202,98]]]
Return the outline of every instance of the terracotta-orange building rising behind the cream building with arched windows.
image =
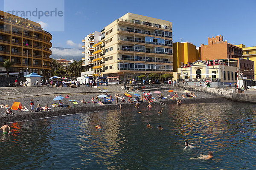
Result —
[[[253,62],[243,59],[243,49],[239,46],[223,41],[223,36],[209,38],[208,45],[201,44],[201,59],[235,59],[238,62],[239,75],[241,79],[254,79]]]

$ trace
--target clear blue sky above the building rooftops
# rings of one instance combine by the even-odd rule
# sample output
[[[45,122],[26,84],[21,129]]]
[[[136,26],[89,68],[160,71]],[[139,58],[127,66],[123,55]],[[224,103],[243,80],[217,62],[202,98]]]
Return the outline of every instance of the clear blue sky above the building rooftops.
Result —
[[[87,34],[100,31],[127,12],[172,22],[173,42],[180,42],[182,38],[183,42],[200,46],[207,44],[208,37],[221,34],[232,44],[256,45],[256,0],[59,1],[43,1],[56,8],[62,8],[61,2],[64,2],[64,31],[50,31],[52,46],[56,47],[80,47]],[[20,2],[26,2],[26,8],[31,9],[42,6],[42,1]],[[0,9],[4,11],[3,6]],[[37,21],[48,24],[46,31],[54,24],[44,19]],[[56,23],[59,26],[60,23]]]

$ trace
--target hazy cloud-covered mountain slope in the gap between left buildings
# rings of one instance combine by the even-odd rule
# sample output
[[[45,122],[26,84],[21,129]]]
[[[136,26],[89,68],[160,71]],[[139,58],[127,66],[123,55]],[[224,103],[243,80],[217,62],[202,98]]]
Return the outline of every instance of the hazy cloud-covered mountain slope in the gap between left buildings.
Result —
[[[62,47],[52,47],[50,48],[52,50],[51,58],[54,59],[75,59],[75,60],[81,60],[84,55],[82,52],[84,51],[82,48],[62,48]]]

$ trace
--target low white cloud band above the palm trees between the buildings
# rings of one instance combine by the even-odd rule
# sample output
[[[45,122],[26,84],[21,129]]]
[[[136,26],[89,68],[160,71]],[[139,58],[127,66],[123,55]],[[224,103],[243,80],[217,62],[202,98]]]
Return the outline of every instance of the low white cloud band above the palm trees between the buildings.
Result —
[[[76,56],[81,56],[82,52],[84,51],[83,49],[79,48],[51,48],[52,50],[52,55],[56,56],[67,56],[67,57],[76,57]]]

